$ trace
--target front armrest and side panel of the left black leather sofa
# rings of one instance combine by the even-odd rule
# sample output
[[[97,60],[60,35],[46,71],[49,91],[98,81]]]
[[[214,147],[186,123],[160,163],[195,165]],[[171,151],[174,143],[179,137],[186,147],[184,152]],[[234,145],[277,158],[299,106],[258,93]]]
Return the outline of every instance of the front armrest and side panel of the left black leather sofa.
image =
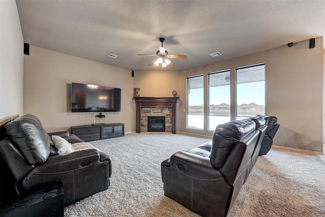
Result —
[[[96,149],[85,149],[49,157],[22,180],[24,193],[62,184],[64,204],[88,197],[109,186],[109,162],[100,161]]]

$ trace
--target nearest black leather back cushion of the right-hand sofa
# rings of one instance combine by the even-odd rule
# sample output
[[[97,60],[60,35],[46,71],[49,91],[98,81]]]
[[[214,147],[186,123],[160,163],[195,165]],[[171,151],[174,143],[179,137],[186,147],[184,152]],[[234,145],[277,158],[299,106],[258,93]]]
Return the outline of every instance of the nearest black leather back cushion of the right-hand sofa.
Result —
[[[211,165],[220,169],[236,144],[255,129],[256,123],[251,119],[233,120],[218,125],[212,139]]]

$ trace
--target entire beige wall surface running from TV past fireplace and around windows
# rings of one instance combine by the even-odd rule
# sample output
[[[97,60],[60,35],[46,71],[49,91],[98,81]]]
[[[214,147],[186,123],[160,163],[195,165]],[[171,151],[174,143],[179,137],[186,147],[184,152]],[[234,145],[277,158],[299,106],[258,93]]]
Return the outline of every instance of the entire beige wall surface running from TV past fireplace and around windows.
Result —
[[[183,109],[186,109],[186,77],[204,74],[207,79],[209,72],[230,69],[231,83],[234,83],[236,67],[265,62],[266,112],[277,116],[281,125],[274,144],[322,151],[322,38],[316,39],[313,49],[309,49],[307,40],[291,48],[282,46],[181,72],[135,71],[134,78],[129,70],[39,47],[31,46],[30,53],[30,56],[25,56],[24,113],[40,117],[47,131],[67,130],[71,126],[93,122],[91,113],[69,112],[69,85],[71,82],[80,82],[122,88],[122,112],[107,114],[103,122],[124,122],[125,132],[135,129],[133,87],[140,87],[141,97],[170,97],[175,89],[180,97],[177,104],[177,131],[212,135],[207,130],[185,128],[186,112]],[[231,91],[234,95],[235,89]],[[207,108],[207,100],[205,106]],[[234,107],[232,115],[235,115]],[[99,121],[96,119],[96,122]]]

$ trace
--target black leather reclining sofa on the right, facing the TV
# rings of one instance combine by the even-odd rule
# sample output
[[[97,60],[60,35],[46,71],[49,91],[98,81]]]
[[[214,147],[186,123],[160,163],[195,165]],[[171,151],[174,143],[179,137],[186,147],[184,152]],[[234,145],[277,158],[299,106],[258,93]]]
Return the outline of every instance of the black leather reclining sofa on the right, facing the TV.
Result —
[[[217,126],[213,139],[161,163],[167,197],[202,216],[226,216],[251,172],[266,132],[262,117]]]

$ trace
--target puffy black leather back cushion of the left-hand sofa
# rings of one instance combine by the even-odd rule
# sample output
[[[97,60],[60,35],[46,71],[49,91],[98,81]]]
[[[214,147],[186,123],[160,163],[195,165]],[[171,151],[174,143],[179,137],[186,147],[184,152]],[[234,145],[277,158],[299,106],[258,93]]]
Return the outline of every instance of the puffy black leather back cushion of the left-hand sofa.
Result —
[[[50,154],[49,136],[41,121],[27,114],[5,126],[7,138],[21,151],[29,164],[43,164]]]

